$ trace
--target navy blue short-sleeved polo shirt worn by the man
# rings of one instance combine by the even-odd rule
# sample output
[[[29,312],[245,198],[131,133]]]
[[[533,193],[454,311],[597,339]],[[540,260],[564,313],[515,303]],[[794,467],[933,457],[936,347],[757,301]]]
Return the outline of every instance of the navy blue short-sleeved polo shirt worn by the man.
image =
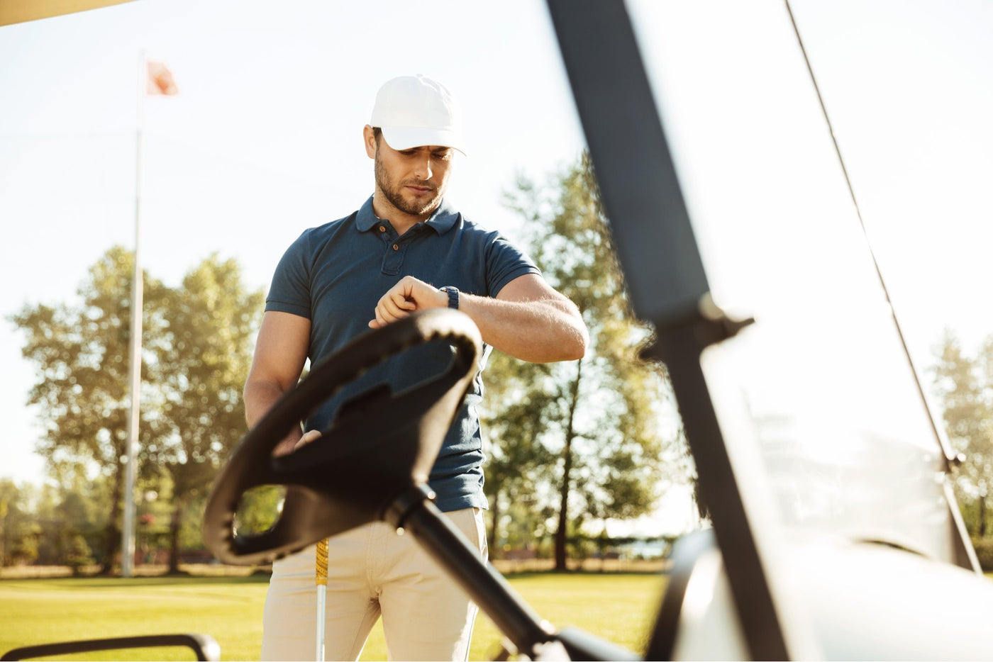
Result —
[[[539,273],[531,259],[498,232],[467,220],[444,200],[430,218],[399,236],[388,220],[375,215],[369,198],[354,214],[305,230],[293,242],[276,267],[265,310],[311,321],[308,357],[318,365],[355,335],[369,331],[376,303],[403,276],[496,297],[518,276]],[[485,345],[480,372],[490,351]],[[394,356],[325,402],[305,427],[323,430],[355,396],[383,383],[397,392],[444,370],[450,360],[451,349],[438,343]],[[480,372],[431,470],[429,484],[443,511],[488,507],[477,413],[483,398]]]

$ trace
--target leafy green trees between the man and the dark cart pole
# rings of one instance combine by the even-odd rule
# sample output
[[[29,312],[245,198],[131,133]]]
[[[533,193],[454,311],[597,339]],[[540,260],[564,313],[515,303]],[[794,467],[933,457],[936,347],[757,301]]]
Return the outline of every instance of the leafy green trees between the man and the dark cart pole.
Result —
[[[656,503],[661,459],[678,440],[659,425],[671,391],[663,367],[638,357],[650,334],[632,314],[589,158],[546,187],[518,178],[506,203],[526,220],[545,278],[582,311],[590,346],[568,363],[494,353],[487,490],[495,533],[503,504],[525,495],[538,512],[554,513],[556,568],[564,570],[567,535],[583,521],[634,518]],[[684,454],[673,457],[684,469]]]

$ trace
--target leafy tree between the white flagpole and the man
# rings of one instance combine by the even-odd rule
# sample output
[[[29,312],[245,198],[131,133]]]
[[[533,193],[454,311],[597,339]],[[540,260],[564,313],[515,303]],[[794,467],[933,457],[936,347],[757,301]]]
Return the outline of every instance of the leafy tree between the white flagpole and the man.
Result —
[[[245,432],[241,388],[264,298],[248,291],[234,260],[204,260],[167,300],[156,387],[164,402],[149,457],[172,479],[169,571],[179,572],[183,515],[206,493]]]

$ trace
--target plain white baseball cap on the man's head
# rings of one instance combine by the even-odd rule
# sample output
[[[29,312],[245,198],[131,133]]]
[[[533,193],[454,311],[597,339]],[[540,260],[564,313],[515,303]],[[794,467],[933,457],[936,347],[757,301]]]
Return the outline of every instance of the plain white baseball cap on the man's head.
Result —
[[[394,150],[441,145],[466,153],[455,97],[445,85],[420,73],[383,83],[375,95],[369,126],[382,129]]]

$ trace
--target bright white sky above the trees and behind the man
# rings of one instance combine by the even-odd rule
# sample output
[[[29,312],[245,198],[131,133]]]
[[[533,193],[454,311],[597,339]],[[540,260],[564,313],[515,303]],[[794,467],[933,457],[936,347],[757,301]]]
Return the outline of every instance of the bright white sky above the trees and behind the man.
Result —
[[[538,0],[278,6],[138,0],[0,28],[0,315],[71,299],[106,248],[133,245],[143,51],[181,90],[148,99],[144,119],[142,256],[171,283],[219,251],[266,287],[304,228],[355,209],[371,192],[360,129],[394,75],[432,75],[461,99],[470,156],[450,198],[511,237],[499,198],[515,173],[541,176],[582,149]],[[974,346],[993,332],[993,6],[792,6],[915,359],[945,326]],[[756,285],[789,282],[805,223],[837,217],[858,235],[784,5],[629,7],[715,294],[748,310]],[[730,275],[758,255],[781,262]],[[0,475],[38,480],[19,347],[4,321]]]

